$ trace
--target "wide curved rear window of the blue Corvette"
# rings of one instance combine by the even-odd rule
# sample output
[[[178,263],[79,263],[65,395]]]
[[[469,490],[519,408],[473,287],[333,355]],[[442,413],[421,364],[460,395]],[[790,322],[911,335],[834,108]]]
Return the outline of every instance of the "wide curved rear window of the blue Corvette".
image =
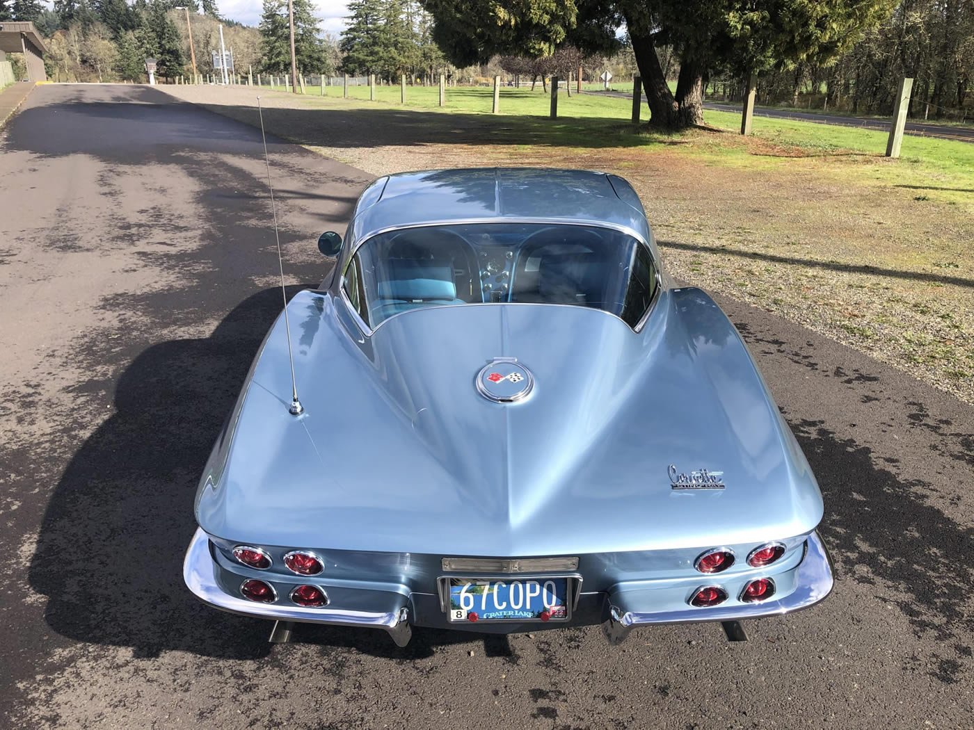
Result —
[[[369,238],[343,287],[369,327],[402,311],[490,303],[590,307],[635,327],[656,293],[656,268],[645,245],[608,228],[469,223]]]

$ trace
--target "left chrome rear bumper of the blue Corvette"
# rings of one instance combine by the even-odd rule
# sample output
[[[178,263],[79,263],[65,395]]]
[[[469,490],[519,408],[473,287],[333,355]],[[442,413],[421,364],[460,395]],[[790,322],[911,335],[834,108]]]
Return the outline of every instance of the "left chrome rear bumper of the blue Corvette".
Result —
[[[186,551],[186,559],[183,561],[183,580],[189,590],[201,601],[231,613],[272,618],[278,621],[304,621],[335,626],[385,629],[399,646],[405,646],[412,637],[406,597],[401,597],[401,605],[393,605],[388,611],[378,612],[254,603],[223,591],[217,583],[215,571],[216,564],[209,552],[209,538],[203,529],[198,528]]]

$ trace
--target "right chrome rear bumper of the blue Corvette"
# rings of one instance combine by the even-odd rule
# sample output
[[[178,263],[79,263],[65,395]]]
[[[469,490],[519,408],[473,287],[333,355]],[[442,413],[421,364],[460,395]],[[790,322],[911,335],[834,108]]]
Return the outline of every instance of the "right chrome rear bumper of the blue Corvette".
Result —
[[[677,611],[629,611],[625,609],[624,592],[606,596],[603,608],[602,632],[609,643],[618,644],[630,631],[646,624],[699,623],[703,621],[740,621],[748,618],[777,616],[801,610],[822,601],[834,584],[832,560],[818,532],[805,540],[805,556],[795,568],[795,590],[779,600],[760,603],[734,603],[707,608]]]

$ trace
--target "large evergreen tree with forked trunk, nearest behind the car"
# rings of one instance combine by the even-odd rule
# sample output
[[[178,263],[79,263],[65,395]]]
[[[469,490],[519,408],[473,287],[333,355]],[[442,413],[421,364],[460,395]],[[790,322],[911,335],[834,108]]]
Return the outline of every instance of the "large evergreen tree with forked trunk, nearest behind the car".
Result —
[[[713,69],[826,62],[875,26],[893,0],[421,0],[434,37],[457,65],[498,53],[542,56],[564,43],[603,50],[625,25],[657,127],[702,120],[702,80]],[[680,59],[670,91],[656,49]],[[601,48],[600,48],[601,47]]]

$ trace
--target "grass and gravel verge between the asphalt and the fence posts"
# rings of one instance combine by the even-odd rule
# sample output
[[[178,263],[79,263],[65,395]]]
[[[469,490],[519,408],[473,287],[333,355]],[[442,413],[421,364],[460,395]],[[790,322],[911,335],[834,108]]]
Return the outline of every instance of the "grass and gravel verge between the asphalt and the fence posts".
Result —
[[[252,89],[181,87],[255,124]],[[631,102],[538,87],[267,92],[268,128],[376,175],[538,165],[614,171],[640,194],[679,279],[776,312],[974,403],[974,144],[705,112],[677,134],[629,122]],[[645,111],[645,110],[644,110]]]

